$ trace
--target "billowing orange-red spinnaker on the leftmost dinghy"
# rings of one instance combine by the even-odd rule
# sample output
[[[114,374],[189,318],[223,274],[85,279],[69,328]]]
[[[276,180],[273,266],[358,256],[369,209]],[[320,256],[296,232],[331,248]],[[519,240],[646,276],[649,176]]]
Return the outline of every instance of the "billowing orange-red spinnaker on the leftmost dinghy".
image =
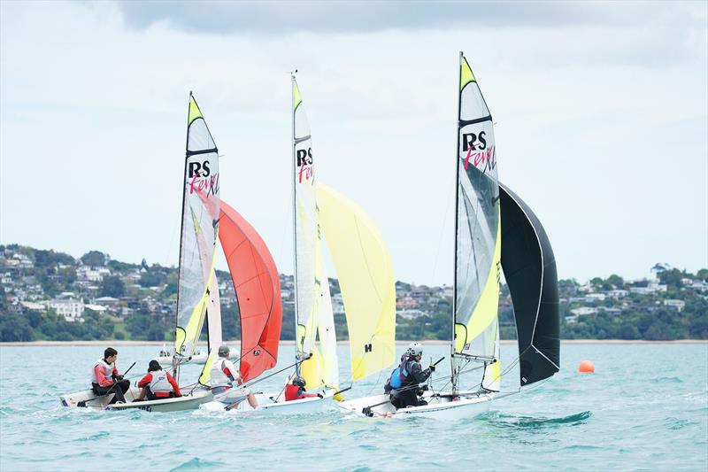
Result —
[[[258,232],[221,200],[219,240],[241,312],[243,382],[273,368],[281,338],[281,281],[273,256]]]

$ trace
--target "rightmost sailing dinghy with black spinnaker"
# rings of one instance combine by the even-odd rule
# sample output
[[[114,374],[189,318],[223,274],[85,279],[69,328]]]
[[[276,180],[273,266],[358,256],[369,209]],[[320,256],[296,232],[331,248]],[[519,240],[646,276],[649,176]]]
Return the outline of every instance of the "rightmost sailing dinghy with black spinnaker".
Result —
[[[427,391],[422,397],[427,405],[397,410],[388,395],[339,405],[356,414],[456,419],[481,413],[491,400],[518,392],[501,391],[501,270],[518,332],[519,391],[559,369],[558,276],[550,242],[528,205],[498,182],[492,118],[462,53],[459,72],[453,341],[451,375],[446,377],[450,390]]]

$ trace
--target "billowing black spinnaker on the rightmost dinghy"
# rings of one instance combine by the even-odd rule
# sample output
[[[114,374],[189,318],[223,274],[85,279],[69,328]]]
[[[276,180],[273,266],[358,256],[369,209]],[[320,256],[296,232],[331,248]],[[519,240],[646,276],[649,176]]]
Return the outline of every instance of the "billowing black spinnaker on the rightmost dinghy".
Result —
[[[560,366],[556,258],[528,205],[504,184],[499,183],[499,188],[502,269],[512,294],[524,386],[550,377]]]

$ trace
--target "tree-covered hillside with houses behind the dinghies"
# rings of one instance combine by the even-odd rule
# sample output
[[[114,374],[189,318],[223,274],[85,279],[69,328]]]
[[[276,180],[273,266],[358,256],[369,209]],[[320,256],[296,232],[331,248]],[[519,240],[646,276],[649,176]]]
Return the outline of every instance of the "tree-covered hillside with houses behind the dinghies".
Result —
[[[654,278],[625,281],[620,275],[587,283],[559,281],[561,338],[708,339],[708,269],[695,275],[657,265]],[[177,268],[130,264],[89,251],[80,259],[18,244],[0,245],[0,342],[142,340],[173,336]],[[230,275],[217,271],[225,339],[240,338],[238,300]],[[281,275],[281,339],[295,337],[293,282]],[[347,337],[341,295],[330,279],[338,337]],[[449,287],[396,282],[396,338],[450,339]],[[72,305],[73,304],[73,305]],[[73,314],[65,311],[73,306]],[[512,299],[503,284],[502,339],[516,337]],[[61,313],[59,313],[61,312]],[[76,316],[76,313],[80,313]]]

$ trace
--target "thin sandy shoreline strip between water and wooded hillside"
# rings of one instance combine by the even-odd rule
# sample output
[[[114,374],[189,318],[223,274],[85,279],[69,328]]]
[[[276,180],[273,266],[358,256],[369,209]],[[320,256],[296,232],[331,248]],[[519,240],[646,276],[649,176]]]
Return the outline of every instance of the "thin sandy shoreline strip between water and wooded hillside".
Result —
[[[421,340],[420,343],[427,345],[447,345],[450,344],[449,341],[435,340]],[[224,341],[225,344],[236,345],[241,344],[239,340]],[[396,340],[396,344],[408,344],[412,343],[411,340]],[[22,342],[11,342],[11,343],[0,343],[0,347],[6,346],[96,346],[96,345],[120,345],[120,346],[148,346],[155,345],[160,346],[167,344],[172,345],[172,342],[167,341],[127,341],[127,340],[105,340],[105,341],[22,341]],[[290,346],[295,345],[294,340],[283,340],[281,345]],[[349,341],[337,341],[337,344],[349,344]],[[516,344],[514,339],[502,339],[501,344]],[[631,340],[631,339],[561,339],[560,344],[708,344],[708,339],[677,339],[675,341],[645,341],[645,340]],[[200,347],[206,344],[198,344]]]

